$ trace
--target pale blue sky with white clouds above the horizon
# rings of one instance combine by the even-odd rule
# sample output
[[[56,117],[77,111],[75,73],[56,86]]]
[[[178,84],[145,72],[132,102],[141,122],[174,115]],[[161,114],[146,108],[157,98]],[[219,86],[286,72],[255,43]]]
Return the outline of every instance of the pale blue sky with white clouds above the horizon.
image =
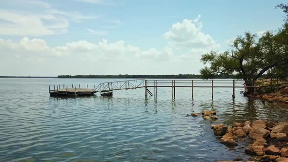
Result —
[[[0,76],[199,74],[286,0],[0,0]]]

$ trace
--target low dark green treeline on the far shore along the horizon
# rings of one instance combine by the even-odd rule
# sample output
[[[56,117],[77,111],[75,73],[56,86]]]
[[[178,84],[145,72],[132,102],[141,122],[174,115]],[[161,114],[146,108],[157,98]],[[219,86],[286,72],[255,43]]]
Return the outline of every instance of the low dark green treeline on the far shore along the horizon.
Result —
[[[59,75],[58,78],[150,78],[150,79],[201,79],[201,75],[178,74],[178,75]],[[236,75],[216,75],[215,79],[236,79]]]

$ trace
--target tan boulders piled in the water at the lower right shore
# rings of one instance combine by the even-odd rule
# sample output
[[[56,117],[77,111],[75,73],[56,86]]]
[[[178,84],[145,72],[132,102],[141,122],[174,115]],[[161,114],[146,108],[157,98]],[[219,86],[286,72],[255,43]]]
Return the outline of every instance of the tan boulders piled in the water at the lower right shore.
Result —
[[[202,114],[191,114],[193,117],[201,115],[204,120],[218,119],[216,111],[205,110]],[[231,126],[220,123],[212,124],[211,129],[214,135],[220,138],[220,143],[227,147],[237,146],[240,140],[250,141],[251,144],[245,149],[245,153],[253,157],[247,162],[288,162],[288,122],[256,120],[244,123],[234,122]]]

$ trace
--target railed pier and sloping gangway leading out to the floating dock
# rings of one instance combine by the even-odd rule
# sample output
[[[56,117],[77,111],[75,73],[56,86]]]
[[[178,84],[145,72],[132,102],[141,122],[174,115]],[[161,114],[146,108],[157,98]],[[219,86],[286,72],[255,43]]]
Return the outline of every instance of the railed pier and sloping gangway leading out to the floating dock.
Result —
[[[288,80],[281,81],[279,83],[279,79],[260,79],[255,81],[252,86],[246,86],[243,80],[231,80],[231,79],[217,79],[217,80],[200,80],[200,79],[175,79],[175,80],[166,80],[166,79],[137,79],[137,80],[126,80],[126,81],[111,81],[111,82],[103,82],[100,83],[96,88],[95,85],[93,89],[88,89],[88,85],[86,88],[64,86],[60,89],[60,85],[54,85],[54,89],[50,90],[50,96],[86,96],[93,95],[97,92],[103,94],[112,95],[114,90],[127,90],[127,89],[137,89],[144,88],[145,89],[145,99],[148,98],[148,95],[153,96],[149,88],[154,89],[154,98],[157,99],[157,88],[171,88],[172,90],[172,98],[175,98],[176,88],[191,88],[191,98],[194,97],[194,88],[211,88],[211,97],[214,97],[214,89],[215,88],[231,88],[230,92],[232,92],[232,98],[235,98],[235,88],[254,88],[254,92],[257,88],[262,88],[266,86],[279,86],[283,84],[288,85]]]

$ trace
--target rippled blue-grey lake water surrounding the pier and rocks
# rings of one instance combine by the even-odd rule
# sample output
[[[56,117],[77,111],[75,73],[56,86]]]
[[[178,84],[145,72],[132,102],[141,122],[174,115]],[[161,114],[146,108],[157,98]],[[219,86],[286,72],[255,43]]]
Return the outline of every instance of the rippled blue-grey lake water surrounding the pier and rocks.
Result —
[[[48,86],[96,86],[119,79],[0,79],[1,162],[165,161],[214,162],[247,160],[243,145],[227,148],[210,124],[246,120],[288,120],[288,106],[262,103],[236,90],[158,88],[145,100],[144,89],[115,91],[82,98],[49,97]],[[153,89],[151,89],[152,91]],[[221,93],[217,93],[221,92]],[[153,93],[153,91],[152,91]],[[216,110],[218,121],[186,114]],[[244,143],[245,145],[245,143]]]

